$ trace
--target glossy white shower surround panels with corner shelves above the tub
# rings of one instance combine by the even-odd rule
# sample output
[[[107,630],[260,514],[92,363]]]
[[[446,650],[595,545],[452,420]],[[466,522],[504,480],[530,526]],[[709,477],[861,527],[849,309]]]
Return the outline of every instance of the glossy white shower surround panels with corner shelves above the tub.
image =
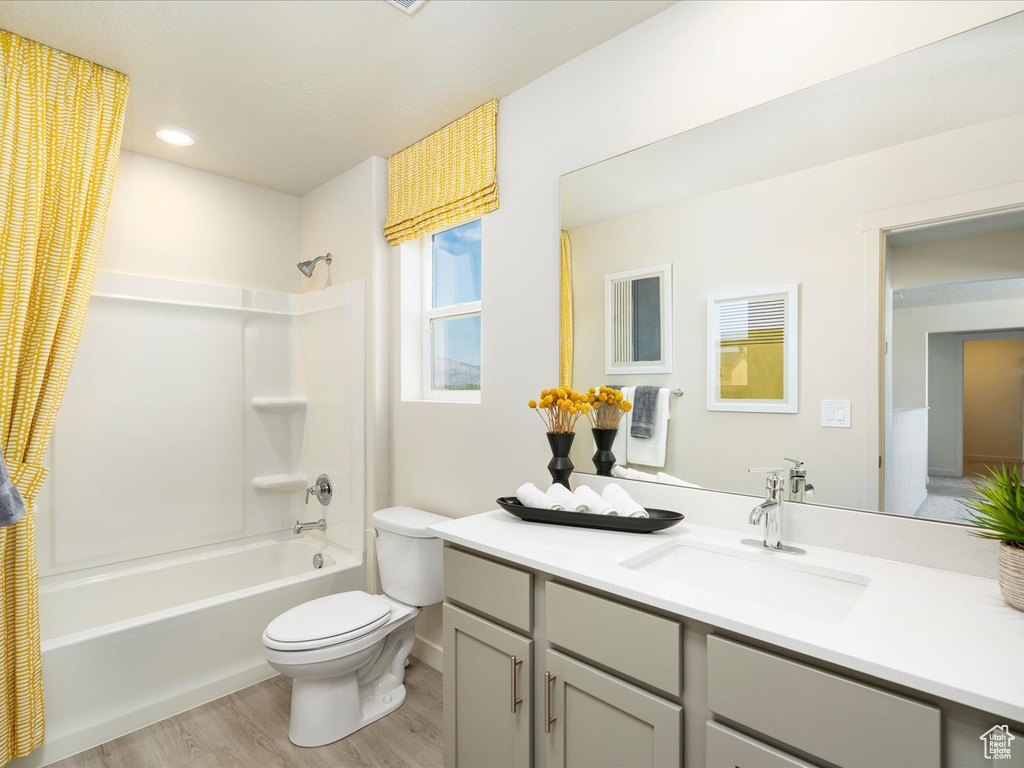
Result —
[[[37,510],[50,532],[41,574],[322,514],[331,541],[361,552],[364,292],[361,281],[297,295],[100,272]],[[321,472],[334,500],[306,507]],[[261,487],[274,482],[290,489]]]

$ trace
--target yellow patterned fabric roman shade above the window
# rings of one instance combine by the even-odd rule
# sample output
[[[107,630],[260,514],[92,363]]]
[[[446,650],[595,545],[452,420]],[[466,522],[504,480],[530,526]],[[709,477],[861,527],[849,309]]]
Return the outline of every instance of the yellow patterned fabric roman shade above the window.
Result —
[[[495,98],[388,158],[390,245],[498,208],[497,128]]]

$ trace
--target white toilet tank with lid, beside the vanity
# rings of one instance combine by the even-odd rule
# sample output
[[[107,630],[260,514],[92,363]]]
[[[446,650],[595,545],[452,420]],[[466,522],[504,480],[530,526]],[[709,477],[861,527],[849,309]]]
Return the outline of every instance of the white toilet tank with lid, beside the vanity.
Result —
[[[443,600],[443,543],[427,527],[451,518],[412,507],[389,507],[375,512],[373,519],[377,565],[385,594],[407,605],[431,605]]]

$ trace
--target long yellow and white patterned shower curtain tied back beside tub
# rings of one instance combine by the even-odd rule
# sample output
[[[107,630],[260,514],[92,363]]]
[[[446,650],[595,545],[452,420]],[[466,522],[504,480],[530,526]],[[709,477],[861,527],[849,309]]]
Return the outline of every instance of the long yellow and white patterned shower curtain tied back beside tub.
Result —
[[[0,527],[0,764],[43,741],[33,503],[82,332],[128,78],[0,30],[0,451],[28,512]]]

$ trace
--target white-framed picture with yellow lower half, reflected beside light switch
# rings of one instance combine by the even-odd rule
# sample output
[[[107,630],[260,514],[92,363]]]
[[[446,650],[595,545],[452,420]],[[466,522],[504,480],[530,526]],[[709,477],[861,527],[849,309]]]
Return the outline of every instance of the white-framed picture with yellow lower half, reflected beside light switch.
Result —
[[[797,413],[799,286],[708,297],[708,410]]]

